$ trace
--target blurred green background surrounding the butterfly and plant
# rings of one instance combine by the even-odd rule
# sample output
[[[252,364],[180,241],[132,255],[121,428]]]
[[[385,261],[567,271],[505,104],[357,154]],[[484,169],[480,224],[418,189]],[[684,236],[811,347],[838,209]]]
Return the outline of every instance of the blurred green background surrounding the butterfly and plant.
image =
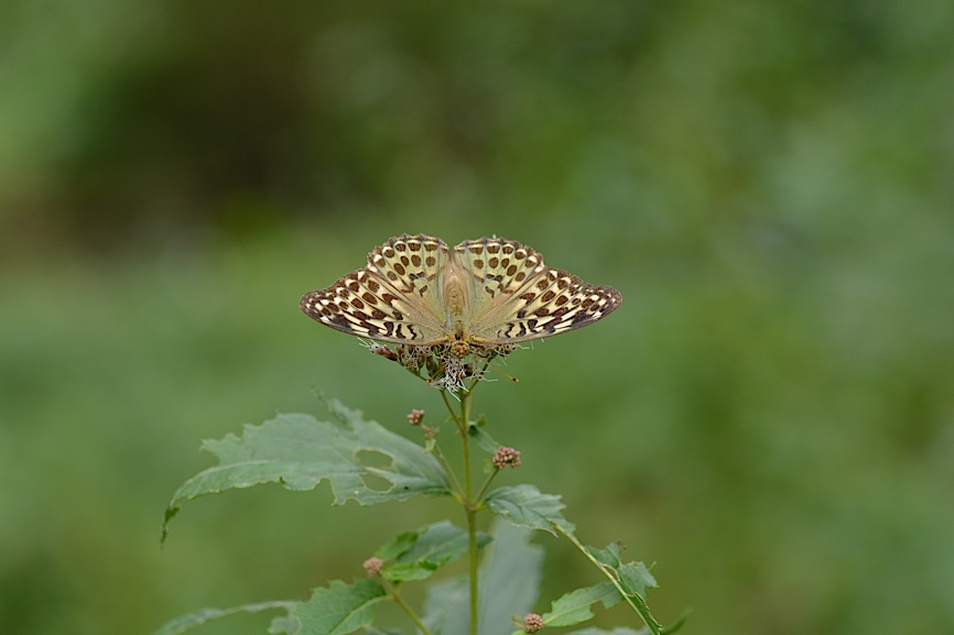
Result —
[[[302,598],[459,522],[275,486],[158,544],[202,438],[441,412],[297,309],[405,231],[622,293],[476,407],[664,622],[954,632],[950,0],[4,2],[0,632]],[[596,581],[541,543],[548,599]]]

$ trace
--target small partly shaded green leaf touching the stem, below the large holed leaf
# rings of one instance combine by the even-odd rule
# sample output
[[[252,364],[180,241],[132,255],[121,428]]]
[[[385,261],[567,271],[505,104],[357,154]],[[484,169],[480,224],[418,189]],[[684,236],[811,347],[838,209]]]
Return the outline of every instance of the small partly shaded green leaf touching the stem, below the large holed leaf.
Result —
[[[478,547],[489,541],[490,536],[478,533]],[[467,532],[447,521],[434,523],[419,532],[401,534],[379,549],[379,554],[393,554],[394,559],[393,565],[381,570],[381,577],[392,582],[423,580],[440,567],[457,560],[467,549]],[[378,557],[387,561],[383,556]]]

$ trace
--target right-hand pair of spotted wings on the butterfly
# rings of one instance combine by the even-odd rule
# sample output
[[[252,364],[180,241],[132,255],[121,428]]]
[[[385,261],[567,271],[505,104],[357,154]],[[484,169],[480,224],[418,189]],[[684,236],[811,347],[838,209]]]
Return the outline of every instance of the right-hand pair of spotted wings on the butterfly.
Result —
[[[610,286],[548,267],[517,241],[468,240],[454,248],[454,258],[471,283],[473,343],[518,343],[577,329],[606,317],[621,299]]]

